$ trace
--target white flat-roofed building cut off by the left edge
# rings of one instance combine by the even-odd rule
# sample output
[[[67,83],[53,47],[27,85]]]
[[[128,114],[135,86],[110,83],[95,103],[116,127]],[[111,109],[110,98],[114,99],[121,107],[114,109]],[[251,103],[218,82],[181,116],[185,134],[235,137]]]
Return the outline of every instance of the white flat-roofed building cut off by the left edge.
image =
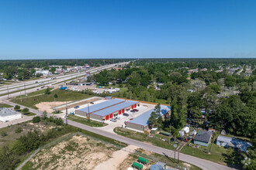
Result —
[[[0,108],[0,121],[13,121],[22,117],[22,114],[19,112],[9,109],[9,108]]]

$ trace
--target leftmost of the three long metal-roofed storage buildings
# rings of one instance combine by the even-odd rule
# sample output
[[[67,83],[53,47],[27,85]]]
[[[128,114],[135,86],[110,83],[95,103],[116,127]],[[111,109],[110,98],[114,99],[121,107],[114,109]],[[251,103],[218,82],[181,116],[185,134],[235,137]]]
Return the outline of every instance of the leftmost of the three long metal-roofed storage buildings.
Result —
[[[106,107],[111,107],[113,105],[120,104],[125,101],[126,100],[123,100],[123,99],[106,100],[105,102],[102,102],[100,104],[95,104],[90,107],[85,107],[79,110],[75,110],[75,114],[85,117],[85,116],[88,116],[88,114],[92,114],[98,110],[102,110],[102,109],[105,109]]]

